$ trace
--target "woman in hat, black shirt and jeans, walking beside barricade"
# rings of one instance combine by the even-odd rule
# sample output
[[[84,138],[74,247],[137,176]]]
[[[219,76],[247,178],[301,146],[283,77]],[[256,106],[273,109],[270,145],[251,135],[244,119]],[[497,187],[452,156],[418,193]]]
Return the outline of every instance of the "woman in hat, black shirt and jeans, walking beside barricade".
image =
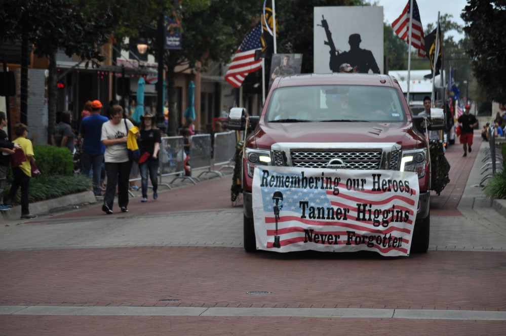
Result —
[[[139,170],[141,173],[141,202],[147,202],[147,179],[151,180],[153,187],[153,199],[158,198],[158,167],[160,165],[158,153],[162,137],[156,126],[156,119],[152,114],[146,113],[140,117],[141,129],[138,140],[141,158],[139,159]]]

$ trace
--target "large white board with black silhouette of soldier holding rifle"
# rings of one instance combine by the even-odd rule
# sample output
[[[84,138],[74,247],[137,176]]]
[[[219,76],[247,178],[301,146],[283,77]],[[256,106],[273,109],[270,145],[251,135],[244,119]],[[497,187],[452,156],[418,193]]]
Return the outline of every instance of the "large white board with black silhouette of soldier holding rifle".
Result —
[[[345,64],[383,73],[382,6],[315,7],[314,17],[315,73],[343,72]]]

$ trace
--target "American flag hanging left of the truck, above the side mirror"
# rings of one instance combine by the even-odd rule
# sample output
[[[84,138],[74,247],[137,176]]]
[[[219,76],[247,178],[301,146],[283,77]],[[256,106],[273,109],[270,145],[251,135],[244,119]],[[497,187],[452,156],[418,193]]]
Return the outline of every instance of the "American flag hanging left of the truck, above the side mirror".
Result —
[[[225,74],[226,81],[232,86],[239,88],[248,73],[254,72],[262,67],[261,59],[255,61],[255,51],[262,48],[260,44],[261,33],[261,25],[250,30],[250,32],[246,34],[236,55],[233,57],[232,63],[230,63],[230,67]]]

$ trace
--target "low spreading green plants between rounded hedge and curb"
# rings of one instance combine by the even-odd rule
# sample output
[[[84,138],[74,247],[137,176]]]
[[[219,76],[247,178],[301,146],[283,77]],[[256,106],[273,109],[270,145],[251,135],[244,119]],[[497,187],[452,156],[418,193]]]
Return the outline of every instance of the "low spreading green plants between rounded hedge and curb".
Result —
[[[92,188],[93,182],[84,175],[61,176],[42,174],[36,178],[30,179],[30,195],[29,202],[37,202],[41,200],[61,197],[64,195],[75,194],[87,191]],[[7,183],[5,197],[7,191],[11,189],[11,183]],[[19,204],[21,192],[18,190],[15,204]]]

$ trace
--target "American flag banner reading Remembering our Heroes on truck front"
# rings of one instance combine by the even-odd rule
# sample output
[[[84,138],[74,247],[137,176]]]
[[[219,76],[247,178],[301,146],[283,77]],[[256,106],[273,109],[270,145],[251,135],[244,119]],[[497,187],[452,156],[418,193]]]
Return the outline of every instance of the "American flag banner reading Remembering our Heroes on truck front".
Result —
[[[257,166],[256,245],[278,252],[408,256],[418,195],[413,172]]]

